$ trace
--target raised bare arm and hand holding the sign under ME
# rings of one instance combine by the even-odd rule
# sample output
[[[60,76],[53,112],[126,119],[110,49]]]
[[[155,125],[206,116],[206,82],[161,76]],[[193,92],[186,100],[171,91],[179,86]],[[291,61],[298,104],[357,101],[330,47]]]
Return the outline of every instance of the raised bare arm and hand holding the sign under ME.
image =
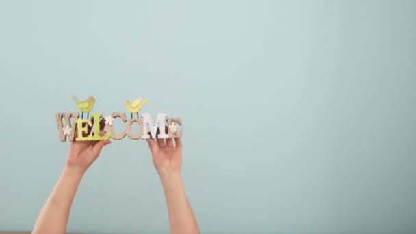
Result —
[[[171,234],[200,233],[181,177],[181,139],[148,139],[153,164],[164,187]]]

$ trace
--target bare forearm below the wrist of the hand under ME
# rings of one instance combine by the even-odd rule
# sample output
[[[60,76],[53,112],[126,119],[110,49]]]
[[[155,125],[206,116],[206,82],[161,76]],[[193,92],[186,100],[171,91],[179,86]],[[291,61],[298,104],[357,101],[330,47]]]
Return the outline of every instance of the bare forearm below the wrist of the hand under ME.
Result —
[[[168,205],[170,233],[199,233],[198,223],[185,194],[181,174],[161,173],[160,177]]]

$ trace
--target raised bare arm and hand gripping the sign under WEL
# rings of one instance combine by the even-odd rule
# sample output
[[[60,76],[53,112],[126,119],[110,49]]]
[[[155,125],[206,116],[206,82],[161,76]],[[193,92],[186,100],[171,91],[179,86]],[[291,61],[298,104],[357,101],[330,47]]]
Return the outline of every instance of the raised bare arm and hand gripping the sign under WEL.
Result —
[[[83,174],[109,140],[72,142],[62,174],[40,211],[32,234],[64,234],[70,207]]]

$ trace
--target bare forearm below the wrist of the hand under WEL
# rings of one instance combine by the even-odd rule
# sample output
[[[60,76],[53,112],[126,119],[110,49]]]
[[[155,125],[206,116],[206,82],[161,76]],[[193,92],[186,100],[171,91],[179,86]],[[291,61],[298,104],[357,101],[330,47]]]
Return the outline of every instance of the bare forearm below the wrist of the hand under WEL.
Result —
[[[32,234],[64,234],[83,172],[66,166],[36,220]]]

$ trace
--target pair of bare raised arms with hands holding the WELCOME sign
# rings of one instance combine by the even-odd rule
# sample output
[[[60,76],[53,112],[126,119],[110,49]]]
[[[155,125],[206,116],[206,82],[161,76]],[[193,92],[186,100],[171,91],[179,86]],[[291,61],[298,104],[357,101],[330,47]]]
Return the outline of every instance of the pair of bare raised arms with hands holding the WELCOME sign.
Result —
[[[100,131],[100,135],[104,135]],[[181,177],[181,138],[146,139],[153,164],[164,188],[170,233],[200,233],[198,223],[185,195]],[[86,170],[96,161],[111,140],[70,142],[60,179],[40,211],[33,234],[64,234],[70,207]],[[103,207],[105,209],[105,207]]]

